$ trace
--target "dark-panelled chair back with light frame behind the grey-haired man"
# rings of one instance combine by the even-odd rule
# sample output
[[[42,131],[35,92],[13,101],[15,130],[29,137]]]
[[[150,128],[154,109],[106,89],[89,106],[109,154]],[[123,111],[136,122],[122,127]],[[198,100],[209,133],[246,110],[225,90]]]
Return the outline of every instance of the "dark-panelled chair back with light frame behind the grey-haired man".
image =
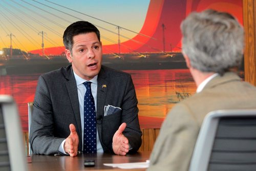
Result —
[[[255,170],[256,109],[206,115],[189,170]]]

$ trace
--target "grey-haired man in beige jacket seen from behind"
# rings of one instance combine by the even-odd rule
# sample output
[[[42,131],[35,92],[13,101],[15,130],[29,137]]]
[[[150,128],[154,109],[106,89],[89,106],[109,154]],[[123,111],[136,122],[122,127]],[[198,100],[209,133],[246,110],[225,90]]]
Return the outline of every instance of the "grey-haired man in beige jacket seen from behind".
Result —
[[[256,88],[237,75],[244,31],[228,13],[193,12],[182,22],[182,53],[197,93],[175,105],[164,120],[148,170],[188,170],[207,113],[256,109]]]

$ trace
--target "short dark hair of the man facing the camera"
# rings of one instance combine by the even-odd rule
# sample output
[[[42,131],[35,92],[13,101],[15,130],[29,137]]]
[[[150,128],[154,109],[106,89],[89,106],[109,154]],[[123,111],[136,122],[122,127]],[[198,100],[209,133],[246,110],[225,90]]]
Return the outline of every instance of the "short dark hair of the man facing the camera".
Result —
[[[70,26],[67,27],[67,29],[63,33],[63,44],[65,45],[65,48],[70,50],[72,54],[72,48],[73,48],[73,37],[78,34],[86,34],[86,33],[96,33],[99,41],[100,41],[100,33],[97,27],[95,27],[93,24],[85,21],[78,21]]]

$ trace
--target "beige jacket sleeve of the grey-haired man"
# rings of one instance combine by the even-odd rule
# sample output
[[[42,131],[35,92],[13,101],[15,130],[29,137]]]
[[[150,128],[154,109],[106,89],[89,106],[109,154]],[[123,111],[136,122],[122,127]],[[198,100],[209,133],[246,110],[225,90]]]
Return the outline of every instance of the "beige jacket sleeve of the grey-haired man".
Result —
[[[175,105],[161,126],[148,170],[188,170],[200,126],[186,105]]]

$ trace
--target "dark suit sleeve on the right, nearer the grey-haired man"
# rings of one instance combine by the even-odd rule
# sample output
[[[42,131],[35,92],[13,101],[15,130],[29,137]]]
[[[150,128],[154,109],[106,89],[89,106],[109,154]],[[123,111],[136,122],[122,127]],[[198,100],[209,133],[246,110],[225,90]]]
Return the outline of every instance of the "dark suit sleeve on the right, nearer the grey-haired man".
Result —
[[[142,133],[138,119],[139,110],[137,104],[138,100],[136,97],[134,84],[131,75],[129,75],[122,104],[122,122],[127,124],[123,134],[129,140],[132,147],[130,153],[137,152],[142,142]]]

